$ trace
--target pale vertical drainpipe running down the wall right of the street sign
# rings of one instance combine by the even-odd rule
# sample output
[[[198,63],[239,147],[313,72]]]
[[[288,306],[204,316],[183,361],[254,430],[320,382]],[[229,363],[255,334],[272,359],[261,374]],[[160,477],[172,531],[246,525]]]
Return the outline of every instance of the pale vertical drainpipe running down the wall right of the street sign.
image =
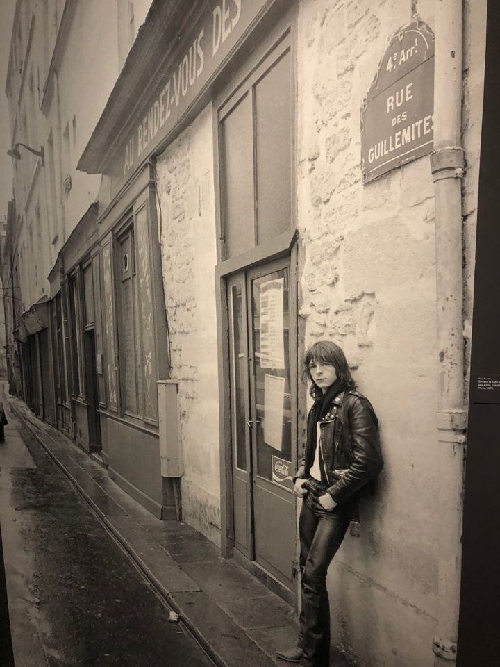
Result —
[[[462,316],[462,0],[435,1],[434,152],[440,477],[435,667],[455,664],[465,448]]]

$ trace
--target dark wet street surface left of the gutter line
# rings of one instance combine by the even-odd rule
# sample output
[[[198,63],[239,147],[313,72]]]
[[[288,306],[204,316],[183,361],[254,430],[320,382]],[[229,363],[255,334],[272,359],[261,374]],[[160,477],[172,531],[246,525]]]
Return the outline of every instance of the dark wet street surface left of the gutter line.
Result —
[[[2,399],[0,525],[16,667],[213,664],[168,622],[169,610]]]

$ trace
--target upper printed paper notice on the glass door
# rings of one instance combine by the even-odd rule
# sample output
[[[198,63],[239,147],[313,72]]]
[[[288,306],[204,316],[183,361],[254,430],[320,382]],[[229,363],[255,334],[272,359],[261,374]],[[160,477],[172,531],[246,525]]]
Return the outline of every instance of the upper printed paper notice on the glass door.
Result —
[[[285,368],[283,292],[285,280],[260,286],[260,368]]]

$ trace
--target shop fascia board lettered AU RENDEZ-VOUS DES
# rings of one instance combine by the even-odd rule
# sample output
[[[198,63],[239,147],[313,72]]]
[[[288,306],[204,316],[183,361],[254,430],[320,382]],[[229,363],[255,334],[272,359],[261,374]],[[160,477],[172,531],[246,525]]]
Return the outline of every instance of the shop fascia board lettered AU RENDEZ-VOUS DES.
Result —
[[[142,106],[124,142],[120,179],[131,174],[168,135],[265,4],[265,0],[207,2],[198,24],[160,72],[162,83]]]

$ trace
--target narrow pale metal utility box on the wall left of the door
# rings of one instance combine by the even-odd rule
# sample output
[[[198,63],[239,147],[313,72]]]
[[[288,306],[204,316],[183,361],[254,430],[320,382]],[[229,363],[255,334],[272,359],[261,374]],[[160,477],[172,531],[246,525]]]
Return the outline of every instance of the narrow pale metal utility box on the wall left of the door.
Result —
[[[178,426],[177,382],[158,380],[158,429],[162,477],[181,477],[181,438]]]

